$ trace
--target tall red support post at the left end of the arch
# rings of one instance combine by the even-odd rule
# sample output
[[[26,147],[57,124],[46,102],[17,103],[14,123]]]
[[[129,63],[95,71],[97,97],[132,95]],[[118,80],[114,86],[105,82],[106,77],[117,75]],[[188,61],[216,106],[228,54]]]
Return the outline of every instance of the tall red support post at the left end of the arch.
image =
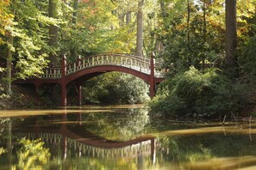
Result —
[[[61,106],[66,106],[66,56],[62,57],[61,64]]]

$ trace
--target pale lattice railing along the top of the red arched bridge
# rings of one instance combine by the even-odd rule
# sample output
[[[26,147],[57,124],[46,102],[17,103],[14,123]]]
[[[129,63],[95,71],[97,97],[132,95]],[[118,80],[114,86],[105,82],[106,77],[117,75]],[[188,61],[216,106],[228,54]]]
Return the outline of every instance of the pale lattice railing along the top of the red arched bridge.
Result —
[[[122,53],[104,53],[88,58],[79,58],[74,63],[66,64],[66,75],[72,75],[79,70],[101,65],[122,66],[132,70],[138,70],[148,75],[151,74],[151,58],[143,58],[140,56]],[[163,77],[163,74],[164,72],[161,70],[161,64],[157,61],[154,62],[154,76]],[[41,78],[59,79],[61,76],[62,68],[53,67],[45,69]]]

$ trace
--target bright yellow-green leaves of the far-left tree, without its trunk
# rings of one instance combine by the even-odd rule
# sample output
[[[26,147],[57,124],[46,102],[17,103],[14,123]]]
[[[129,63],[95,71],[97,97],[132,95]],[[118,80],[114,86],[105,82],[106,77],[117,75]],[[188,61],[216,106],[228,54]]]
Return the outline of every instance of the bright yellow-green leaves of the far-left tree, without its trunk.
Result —
[[[59,21],[49,18],[46,11],[47,1],[15,1],[9,6],[9,13],[15,17],[5,31],[14,37],[14,44],[6,44],[3,48],[11,49],[18,78],[39,76],[47,66],[47,27]]]

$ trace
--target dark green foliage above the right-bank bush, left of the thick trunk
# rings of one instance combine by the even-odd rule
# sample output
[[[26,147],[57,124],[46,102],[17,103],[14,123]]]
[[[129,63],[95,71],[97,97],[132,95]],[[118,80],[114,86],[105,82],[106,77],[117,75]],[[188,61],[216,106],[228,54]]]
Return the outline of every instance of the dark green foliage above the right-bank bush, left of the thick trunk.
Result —
[[[159,57],[164,58],[164,66],[170,68],[169,74],[173,76],[184,72],[190,65],[202,69],[205,67],[203,63],[208,66],[219,64],[218,60],[224,56],[225,36],[222,22],[215,22],[211,18],[215,15],[211,7],[206,9],[207,17],[203,21],[202,2],[190,3],[188,22],[186,3],[174,1],[168,4],[170,7],[166,4],[166,14],[161,15],[156,33],[165,46],[165,51],[160,52]],[[207,30],[203,24],[207,25]]]

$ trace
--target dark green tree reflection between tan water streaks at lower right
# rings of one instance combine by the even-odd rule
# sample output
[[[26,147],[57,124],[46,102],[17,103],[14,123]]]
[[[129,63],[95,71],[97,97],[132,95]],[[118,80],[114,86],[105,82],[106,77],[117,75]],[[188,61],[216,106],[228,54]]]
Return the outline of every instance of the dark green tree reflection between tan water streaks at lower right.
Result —
[[[193,135],[159,138],[161,161],[194,162],[215,157],[256,155],[256,143],[245,135]]]

